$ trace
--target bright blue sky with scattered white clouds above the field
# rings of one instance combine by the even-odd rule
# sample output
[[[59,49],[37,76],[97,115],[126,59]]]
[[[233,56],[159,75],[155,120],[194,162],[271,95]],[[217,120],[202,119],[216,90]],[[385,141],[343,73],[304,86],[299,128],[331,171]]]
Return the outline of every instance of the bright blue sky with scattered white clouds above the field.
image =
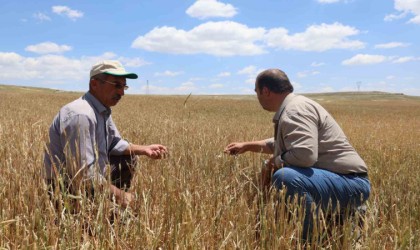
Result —
[[[127,94],[253,94],[284,70],[297,93],[420,96],[420,0],[0,0],[0,84],[86,91],[121,61]]]

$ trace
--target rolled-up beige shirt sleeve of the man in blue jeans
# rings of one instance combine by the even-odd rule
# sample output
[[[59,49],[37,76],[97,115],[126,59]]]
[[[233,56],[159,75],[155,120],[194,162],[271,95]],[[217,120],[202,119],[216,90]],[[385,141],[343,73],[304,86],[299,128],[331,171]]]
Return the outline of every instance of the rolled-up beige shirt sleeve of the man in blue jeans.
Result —
[[[282,124],[286,151],[281,159],[287,165],[311,167],[318,158],[317,119],[309,112],[287,112]]]

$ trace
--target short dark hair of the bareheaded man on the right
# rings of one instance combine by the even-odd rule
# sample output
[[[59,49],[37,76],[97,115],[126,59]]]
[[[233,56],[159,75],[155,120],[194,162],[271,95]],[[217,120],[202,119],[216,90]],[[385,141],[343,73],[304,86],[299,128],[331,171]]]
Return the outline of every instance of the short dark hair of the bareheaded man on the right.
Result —
[[[293,86],[286,73],[279,69],[267,69],[257,76],[257,86],[260,91],[267,87],[274,93],[292,93]]]

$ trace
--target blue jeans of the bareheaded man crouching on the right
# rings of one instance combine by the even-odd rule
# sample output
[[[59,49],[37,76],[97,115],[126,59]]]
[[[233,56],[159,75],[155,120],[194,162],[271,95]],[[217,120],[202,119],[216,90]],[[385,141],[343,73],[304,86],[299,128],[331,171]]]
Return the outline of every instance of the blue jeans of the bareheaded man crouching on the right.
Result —
[[[315,203],[317,210],[326,211],[331,199],[333,211],[338,203],[340,208],[351,209],[360,206],[370,194],[367,176],[343,175],[319,168],[284,167],[273,174],[272,182],[277,189],[286,187],[286,199],[293,199],[296,194],[298,198],[304,199],[303,239],[312,234],[312,203]]]

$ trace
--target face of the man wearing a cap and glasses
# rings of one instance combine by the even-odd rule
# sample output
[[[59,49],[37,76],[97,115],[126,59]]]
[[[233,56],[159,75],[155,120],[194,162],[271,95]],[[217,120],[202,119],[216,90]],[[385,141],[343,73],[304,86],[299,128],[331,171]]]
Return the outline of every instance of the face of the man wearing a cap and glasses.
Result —
[[[93,96],[108,108],[119,102],[124,95],[125,86],[125,77],[113,75],[106,75],[104,79],[95,79],[91,82]]]

